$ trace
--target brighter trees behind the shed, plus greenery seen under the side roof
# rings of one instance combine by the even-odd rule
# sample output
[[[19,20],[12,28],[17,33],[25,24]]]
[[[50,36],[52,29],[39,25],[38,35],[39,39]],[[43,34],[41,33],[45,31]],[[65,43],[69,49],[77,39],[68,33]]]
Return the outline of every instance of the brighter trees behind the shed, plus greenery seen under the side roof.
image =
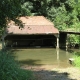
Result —
[[[80,32],[80,0],[22,0],[21,4],[30,15],[45,16],[59,30]],[[79,36],[74,36],[70,40],[79,44]]]

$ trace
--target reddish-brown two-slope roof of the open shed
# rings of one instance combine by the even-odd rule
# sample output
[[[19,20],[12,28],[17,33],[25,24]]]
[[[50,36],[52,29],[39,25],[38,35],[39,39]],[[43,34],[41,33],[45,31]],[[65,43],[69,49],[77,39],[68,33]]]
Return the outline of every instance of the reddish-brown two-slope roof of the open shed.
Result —
[[[9,23],[7,28],[8,34],[54,34],[59,33],[58,29],[54,27],[53,23],[50,22],[43,16],[26,16],[19,18],[24,24],[24,28],[19,29],[19,26],[15,25],[14,22]]]

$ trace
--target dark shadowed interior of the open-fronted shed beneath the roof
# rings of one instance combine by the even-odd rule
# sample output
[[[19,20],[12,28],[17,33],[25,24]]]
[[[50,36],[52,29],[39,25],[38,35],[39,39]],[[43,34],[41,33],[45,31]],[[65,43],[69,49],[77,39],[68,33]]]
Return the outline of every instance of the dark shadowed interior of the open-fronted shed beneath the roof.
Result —
[[[8,35],[7,47],[56,47],[54,35]]]

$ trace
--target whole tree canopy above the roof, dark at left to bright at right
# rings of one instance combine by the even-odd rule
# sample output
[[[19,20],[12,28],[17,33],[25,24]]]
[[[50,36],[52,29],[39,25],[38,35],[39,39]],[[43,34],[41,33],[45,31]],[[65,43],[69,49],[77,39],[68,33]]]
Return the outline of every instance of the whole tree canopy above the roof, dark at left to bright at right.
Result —
[[[0,28],[16,17],[43,15],[50,19],[59,30],[80,26],[79,0],[1,0]]]

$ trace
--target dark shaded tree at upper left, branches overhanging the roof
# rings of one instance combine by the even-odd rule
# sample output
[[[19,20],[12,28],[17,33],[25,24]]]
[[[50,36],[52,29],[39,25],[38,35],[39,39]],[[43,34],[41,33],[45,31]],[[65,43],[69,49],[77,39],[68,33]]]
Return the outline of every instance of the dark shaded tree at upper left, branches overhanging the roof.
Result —
[[[0,0],[0,35],[10,20],[13,20],[15,24],[20,27],[23,27],[18,17],[28,15],[29,10],[27,10],[27,7],[25,10],[22,1],[23,0]]]

